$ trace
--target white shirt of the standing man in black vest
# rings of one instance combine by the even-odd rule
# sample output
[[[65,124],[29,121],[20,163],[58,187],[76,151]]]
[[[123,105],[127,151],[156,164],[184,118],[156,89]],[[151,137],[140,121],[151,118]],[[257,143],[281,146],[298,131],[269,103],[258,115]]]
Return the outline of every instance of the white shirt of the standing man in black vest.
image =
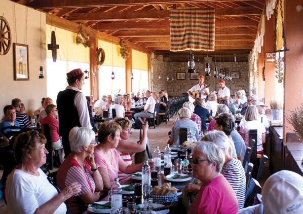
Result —
[[[87,99],[85,95],[78,88],[72,86],[67,86],[66,89],[71,89],[80,92],[74,96],[73,104],[77,108],[81,127],[87,127],[92,129],[93,127],[89,119]]]

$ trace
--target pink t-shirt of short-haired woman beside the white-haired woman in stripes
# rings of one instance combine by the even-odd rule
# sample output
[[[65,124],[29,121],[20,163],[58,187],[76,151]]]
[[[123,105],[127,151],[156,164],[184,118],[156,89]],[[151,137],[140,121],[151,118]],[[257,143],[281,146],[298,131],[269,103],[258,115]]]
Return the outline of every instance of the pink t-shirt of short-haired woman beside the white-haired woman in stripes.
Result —
[[[111,160],[106,159],[102,156],[101,150],[95,149],[95,163],[97,167],[107,169],[110,185],[114,182],[114,180],[118,177],[119,171],[119,159],[121,158],[116,149],[109,150],[111,153]]]

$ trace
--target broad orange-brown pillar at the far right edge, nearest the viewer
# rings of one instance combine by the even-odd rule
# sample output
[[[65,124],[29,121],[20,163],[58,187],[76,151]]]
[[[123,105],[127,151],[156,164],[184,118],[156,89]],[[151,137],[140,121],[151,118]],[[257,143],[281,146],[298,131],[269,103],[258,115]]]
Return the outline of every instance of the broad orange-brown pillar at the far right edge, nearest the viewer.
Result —
[[[284,57],[284,118],[283,136],[293,131],[292,126],[286,121],[285,115],[303,101],[303,11],[297,12],[296,6],[301,5],[301,0],[284,0],[284,26],[287,39],[287,48]]]

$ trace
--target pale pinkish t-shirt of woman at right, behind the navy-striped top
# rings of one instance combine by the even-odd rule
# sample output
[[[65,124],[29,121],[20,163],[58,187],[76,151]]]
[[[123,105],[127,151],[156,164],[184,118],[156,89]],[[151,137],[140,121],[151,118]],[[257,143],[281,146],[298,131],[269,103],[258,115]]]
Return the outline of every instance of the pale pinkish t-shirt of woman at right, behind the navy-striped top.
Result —
[[[244,142],[249,147],[249,130],[257,129],[257,152],[262,151],[262,133],[266,132],[264,124],[258,120],[251,120],[243,123],[240,128],[240,134],[244,134]]]

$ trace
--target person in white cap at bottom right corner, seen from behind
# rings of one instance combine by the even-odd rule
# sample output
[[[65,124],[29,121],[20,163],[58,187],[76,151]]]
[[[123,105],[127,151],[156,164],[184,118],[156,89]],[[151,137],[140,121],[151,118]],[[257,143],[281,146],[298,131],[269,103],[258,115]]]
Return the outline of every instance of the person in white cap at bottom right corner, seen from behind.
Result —
[[[262,213],[303,213],[303,177],[292,171],[278,171],[264,183],[262,202],[239,212],[239,214]]]

